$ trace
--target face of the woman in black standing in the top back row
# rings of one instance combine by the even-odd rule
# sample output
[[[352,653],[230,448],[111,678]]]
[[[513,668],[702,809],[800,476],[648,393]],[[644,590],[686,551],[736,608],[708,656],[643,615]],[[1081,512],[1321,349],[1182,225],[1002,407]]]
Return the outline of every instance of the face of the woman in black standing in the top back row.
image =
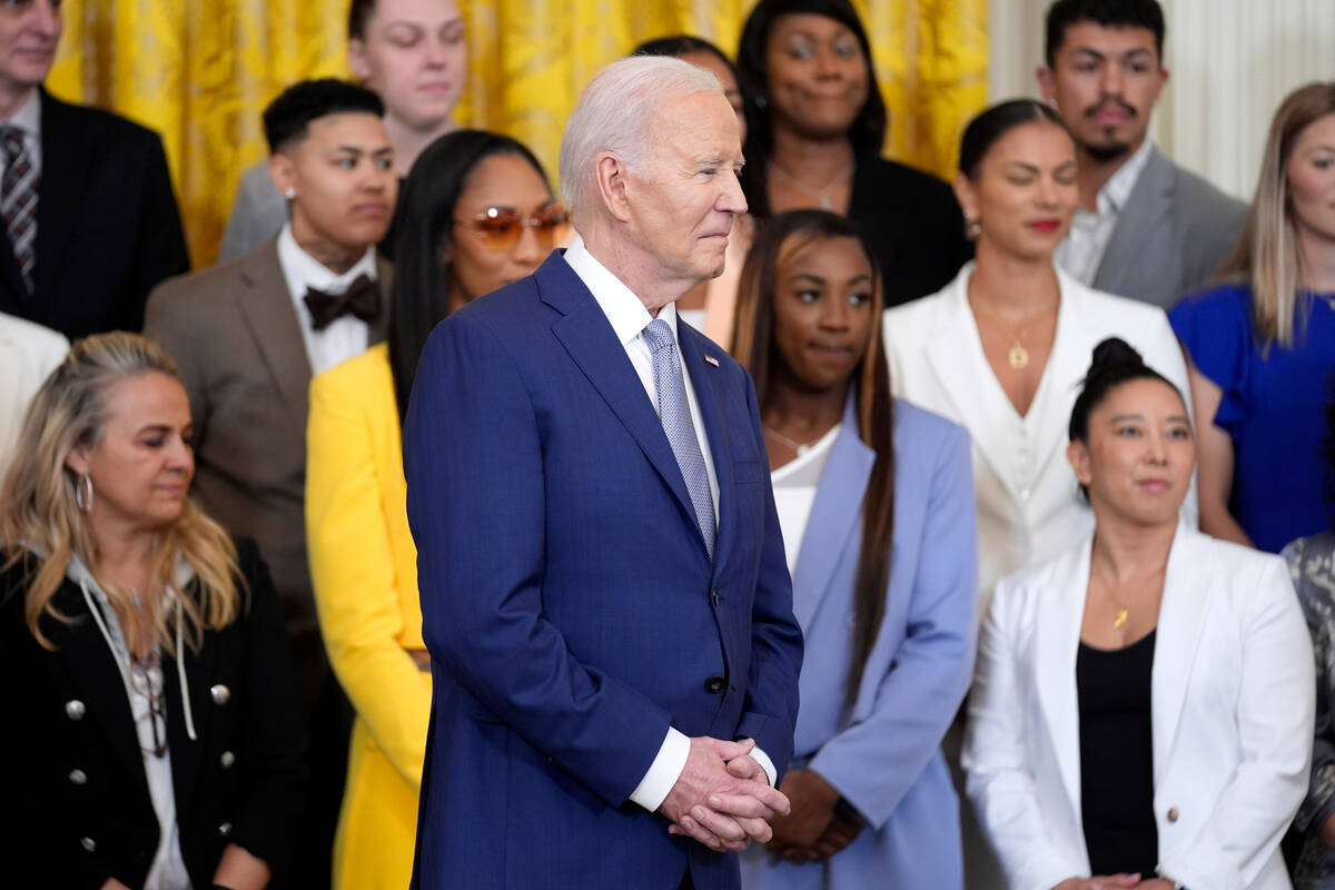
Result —
[[[778,16],[765,43],[774,124],[809,137],[842,136],[866,104],[866,56],[857,36],[810,12]]]

